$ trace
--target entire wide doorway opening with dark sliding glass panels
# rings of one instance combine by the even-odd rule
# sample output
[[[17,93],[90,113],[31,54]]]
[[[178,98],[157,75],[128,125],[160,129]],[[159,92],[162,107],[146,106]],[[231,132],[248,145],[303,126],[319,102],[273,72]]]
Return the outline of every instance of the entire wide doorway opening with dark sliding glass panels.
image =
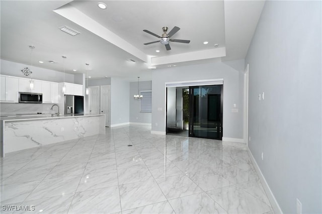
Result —
[[[167,134],[222,139],[223,85],[167,87]]]

